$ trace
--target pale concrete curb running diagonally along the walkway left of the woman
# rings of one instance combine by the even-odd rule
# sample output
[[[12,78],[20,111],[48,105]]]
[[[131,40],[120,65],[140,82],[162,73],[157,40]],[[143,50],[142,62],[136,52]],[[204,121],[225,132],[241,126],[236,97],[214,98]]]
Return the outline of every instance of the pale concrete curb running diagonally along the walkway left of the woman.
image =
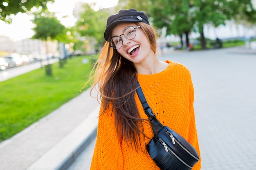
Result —
[[[99,107],[27,170],[66,170],[97,134]]]

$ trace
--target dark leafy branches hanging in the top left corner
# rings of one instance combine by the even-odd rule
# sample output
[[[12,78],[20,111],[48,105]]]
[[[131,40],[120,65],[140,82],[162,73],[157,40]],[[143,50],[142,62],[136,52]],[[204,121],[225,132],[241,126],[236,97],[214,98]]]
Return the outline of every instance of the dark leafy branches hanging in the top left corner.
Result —
[[[47,2],[54,2],[55,0],[3,0],[0,3],[0,20],[11,23],[11,14],[27,13],[32,7],[42,7],[47,9]]]

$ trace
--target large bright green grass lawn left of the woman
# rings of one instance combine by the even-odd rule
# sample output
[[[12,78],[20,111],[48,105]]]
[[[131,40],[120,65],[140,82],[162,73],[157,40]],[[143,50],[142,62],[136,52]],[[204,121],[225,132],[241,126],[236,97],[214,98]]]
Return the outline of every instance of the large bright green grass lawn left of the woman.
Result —
[[[89,63],[83,64],[83,59]],[[0,82],[0,141],[79,95],[90,70],[90,56],[78,56],[67,59],[62,68],[58,62],[52,64],[52,76],[39,68]]]

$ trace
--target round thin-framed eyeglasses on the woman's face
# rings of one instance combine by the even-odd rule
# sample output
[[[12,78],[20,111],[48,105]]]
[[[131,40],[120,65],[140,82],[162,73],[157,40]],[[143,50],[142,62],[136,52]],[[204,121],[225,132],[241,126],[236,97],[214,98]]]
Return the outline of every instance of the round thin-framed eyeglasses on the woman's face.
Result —
[[[131,39],[135,38],[136,29],[139,28],[139,27],[140,26],[136,26],[136,27],[126,26],[125,29],[124,29],[124,34],[121,34],[121,35],[124,35],[125,38],[127,38],[128,40],[131,40]],[[111,38],[110,46],[113,49],[118,50],[123,46],[123,40],[120,38],[121,35],[114,36],[114,37]]]

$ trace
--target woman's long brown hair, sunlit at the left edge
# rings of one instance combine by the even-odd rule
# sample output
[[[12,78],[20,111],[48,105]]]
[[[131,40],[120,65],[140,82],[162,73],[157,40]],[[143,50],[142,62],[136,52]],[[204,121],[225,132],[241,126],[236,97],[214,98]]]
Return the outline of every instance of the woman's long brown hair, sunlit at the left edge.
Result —
[[[137,22],[137,24],[141,26],[151,48],[156,53],[156,29],[144,22]],[[112,49],[108,41],[100,51],[92,74],[93,88],[97,86],[99,89],[104,111],[111,107],[115,115],[117,135],[120,138],[124,137],[128,146],[130,141],[131,145],[134,144],[137,149],[139,146],[137,139],[141,141],[139,134],[146,136],[142,126],[144,119],[141,119],[135,102],[137,71],[134,64],[122,57],[117,50]]]

